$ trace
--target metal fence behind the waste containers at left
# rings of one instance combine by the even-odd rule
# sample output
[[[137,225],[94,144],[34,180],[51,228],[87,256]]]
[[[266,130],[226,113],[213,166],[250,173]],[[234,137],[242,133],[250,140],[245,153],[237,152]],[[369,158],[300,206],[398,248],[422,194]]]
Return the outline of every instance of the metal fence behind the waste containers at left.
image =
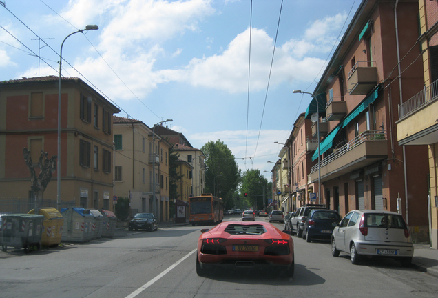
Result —
[[[75,201],[61,201],[61,208],[74,207]],[[56,200],[45,199],[39,207],[57,208]],[[0,213],[28,213],[35,208],[34,199],[0,198]]]

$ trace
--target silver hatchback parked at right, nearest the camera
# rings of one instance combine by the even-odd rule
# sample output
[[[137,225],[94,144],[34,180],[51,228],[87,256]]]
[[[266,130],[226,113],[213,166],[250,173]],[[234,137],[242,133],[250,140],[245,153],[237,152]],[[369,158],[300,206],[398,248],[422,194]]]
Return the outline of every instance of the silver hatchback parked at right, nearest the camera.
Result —
[[[364,256],[392,257],[409,266],[414,255],[410,232],[403,217],[396,212],[353,210],[335,227],[331,235],[331,254],[350,254],[358,264]]]

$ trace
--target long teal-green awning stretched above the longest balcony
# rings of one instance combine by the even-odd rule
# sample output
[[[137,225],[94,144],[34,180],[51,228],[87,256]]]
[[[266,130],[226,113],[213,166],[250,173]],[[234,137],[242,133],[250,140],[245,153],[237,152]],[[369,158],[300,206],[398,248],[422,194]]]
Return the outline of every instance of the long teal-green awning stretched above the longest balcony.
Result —
[[[357,115],[359,115],[361,112],[363,112],[368,106],[373,103],[377,97],[379,96],[379,87],[377,87],[371,95],[368,95],[362,103],[359,103],[359,105],[356,106],[356,108],[348,114],[347,117],[344,118],[331,132],[328,132],[328,135],[320,142],[320,155],[324,154],[327,150],[333,147],[333,139],[336,137],[337,132],[341,130],[342,128],[346,127],[348,123],[350,123],[351,120],[355,119]],[[315,153],[312,155],[312,161],[318,158],[318,150],[315,150]]]

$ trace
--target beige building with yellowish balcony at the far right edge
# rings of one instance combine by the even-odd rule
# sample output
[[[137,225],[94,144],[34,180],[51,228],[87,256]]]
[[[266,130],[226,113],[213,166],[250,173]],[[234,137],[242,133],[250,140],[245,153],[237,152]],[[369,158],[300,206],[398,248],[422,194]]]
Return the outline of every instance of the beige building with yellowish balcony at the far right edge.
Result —
[[[403,148],[428,146],[428,218],[432,248],[438,248],[438,3],[419,0],[424,87],[400,101],[397,141]]]

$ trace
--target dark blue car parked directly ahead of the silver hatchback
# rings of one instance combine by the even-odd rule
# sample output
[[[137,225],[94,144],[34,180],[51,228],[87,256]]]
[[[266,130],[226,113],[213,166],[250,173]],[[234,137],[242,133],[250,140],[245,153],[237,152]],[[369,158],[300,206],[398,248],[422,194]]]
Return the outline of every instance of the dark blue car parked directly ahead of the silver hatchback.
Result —
[[[341,221],[336,210],[313,209],[304,223],[302,239],[307,242],[312,239],[331,239],[335,226]]]

